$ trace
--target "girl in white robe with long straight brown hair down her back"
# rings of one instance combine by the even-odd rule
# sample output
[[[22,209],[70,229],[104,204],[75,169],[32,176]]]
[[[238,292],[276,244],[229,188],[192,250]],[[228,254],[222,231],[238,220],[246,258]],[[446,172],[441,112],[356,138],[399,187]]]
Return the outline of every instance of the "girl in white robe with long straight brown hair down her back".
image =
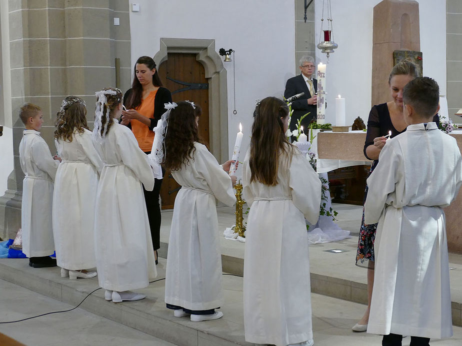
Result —
[[[245,341],[313,345],[305,218],[319,216],[321,183],[308,160],[288,143],[288,107],[266,97],[253,112],[250,149],[242,168],[250,212],[245,232]]]

